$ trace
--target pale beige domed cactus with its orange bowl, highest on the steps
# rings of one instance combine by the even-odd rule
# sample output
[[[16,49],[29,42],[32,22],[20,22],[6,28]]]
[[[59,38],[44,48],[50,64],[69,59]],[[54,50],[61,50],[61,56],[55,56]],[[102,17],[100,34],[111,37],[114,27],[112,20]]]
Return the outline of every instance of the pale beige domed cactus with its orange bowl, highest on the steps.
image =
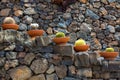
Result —
[[[18,30],[19,26],[15,23],[15,20],[12,17],[6,17],[3,20],[2,29],[13,29]]]

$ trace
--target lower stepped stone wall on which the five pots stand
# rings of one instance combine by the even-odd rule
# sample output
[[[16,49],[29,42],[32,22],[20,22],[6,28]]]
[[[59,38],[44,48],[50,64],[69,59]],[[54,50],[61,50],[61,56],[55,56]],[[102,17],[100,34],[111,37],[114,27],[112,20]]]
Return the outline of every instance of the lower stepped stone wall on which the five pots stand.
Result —
[[[26,32],[0,33],[0,80],[120,79],[120,59],[98,52],[75,52],[73,44],[55,45],[48,36],[32,40]]]

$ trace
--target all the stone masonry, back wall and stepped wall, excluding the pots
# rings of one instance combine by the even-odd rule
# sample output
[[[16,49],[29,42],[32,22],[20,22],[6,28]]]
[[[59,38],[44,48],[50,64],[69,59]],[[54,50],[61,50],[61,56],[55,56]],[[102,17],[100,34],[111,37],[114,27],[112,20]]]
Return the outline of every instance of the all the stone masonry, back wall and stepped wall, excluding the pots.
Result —
[[[65,0],[62,6],[52,1],[0,1],[0,80],[119,80],[120,58],[106,61],[99,51],[112,46],[120,52],[120,1]],[[2,29],[7,16],[18,31]],[[27,34],[32,23],[45,31],[35,40]],[[68,44],[53,43],[56,32],[70,36]],[[90,45],[88,51],[74,51],[79,38]]]

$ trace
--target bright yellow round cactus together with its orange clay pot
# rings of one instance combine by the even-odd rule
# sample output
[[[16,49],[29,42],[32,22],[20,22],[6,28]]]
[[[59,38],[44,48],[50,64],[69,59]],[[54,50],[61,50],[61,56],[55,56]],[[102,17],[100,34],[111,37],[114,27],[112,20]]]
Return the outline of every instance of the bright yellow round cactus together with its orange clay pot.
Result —
[[[83,40],[83,39],[77,40],[74,44],[74,50],[76,52],[87,51],[88,48],[89,48],[89,45],[87,45],[85,40]]]

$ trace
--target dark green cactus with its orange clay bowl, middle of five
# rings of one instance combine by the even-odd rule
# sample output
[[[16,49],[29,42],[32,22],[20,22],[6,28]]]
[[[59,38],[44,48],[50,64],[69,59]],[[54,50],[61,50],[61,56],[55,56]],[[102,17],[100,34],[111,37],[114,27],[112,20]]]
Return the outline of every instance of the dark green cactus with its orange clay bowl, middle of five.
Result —
[[[56,44],[66,44],[70,40],[70,37],[66,37],[63,32],[57,32],[53,42]]]

